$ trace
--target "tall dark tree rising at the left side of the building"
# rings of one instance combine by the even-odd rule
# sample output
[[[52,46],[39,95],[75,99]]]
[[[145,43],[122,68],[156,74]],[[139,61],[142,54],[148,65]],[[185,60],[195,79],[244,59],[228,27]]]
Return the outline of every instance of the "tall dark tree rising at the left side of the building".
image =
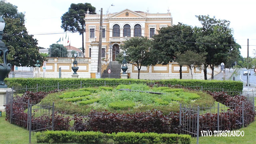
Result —
[[[90,14],[96,14],[96,8],[92,6],[90,3],[79,3],[79,4],[71,4],[70,8],[68,8],[68,12],[63,14],[61,17],[61,28],[70,32],[79,32],[82,34],[82,52],[84,54],[84,31],[85,31],[85,21],[84,14],[89,9]]]

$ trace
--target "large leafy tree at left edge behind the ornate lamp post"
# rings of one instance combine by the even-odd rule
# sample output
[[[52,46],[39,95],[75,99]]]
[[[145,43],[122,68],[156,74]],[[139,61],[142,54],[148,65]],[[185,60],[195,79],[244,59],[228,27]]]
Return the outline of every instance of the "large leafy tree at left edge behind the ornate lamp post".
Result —
[[[19,13],[17,6],[0,1],[0,15],[3,14],[6,26],[3,42],[10,50],[8,60],[12,66],[34,66],[36,60],[40,64],[45,60],[39,54],[37,40],[29,35],[24,25],[24,14]]]

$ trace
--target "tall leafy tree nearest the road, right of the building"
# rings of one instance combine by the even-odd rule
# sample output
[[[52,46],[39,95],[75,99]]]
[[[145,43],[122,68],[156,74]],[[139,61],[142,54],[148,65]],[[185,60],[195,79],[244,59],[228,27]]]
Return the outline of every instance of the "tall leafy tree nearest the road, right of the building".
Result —
[[[220,65],[222,62],[227,63],[232,52],[239,52],[240,46],[234,40],[229,21],[217,20],[215,17],[210,18],[209,15],[196,17],[202,24],[196,44],[200,52],[206,52],[204,79],[207,80],[206,68],[210,66],[213,80],[214,66]]]

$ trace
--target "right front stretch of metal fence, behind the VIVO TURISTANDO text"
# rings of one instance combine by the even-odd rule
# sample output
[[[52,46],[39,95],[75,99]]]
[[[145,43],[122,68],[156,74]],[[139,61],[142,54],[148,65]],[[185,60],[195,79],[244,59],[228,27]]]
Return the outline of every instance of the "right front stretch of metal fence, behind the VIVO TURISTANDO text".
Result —
[[[179,114],[181,133],[196,137],[198,144],[202,130],[234,130],[250,124],[255,114],[254,97],[247,96],[241,104],[229,102],[205,107],[180,104]]]

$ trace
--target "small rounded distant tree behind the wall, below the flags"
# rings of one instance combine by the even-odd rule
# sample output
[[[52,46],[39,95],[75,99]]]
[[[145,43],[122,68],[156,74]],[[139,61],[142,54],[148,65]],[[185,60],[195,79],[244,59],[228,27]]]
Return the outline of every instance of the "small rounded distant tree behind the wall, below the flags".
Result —
[[[67,48],[65,48],[62,44],[50,45],[50,48],[48,49],[48,54],[50,54],[50,51],[51,57],[67,57],[68,54]]]

